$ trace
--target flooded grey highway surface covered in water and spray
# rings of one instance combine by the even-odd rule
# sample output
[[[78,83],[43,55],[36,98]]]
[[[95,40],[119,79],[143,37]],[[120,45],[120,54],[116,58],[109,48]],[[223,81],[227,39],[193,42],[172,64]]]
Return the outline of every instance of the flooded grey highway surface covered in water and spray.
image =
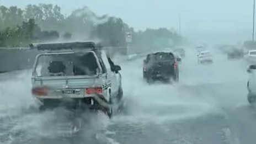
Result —
[[[1,142],[255,143],[256,109],[247,103],[243,60],[216,53],[212,65],[199,65],[195,51],[188,50],[179,65],[180,82],[173,84],[143,82],[142,60],[117,63],[127,100],[124,114],[111,120],[94,115],[88,129],[71,138],[46,136],[44,124],[54,130],[58,122],[49,121],[56,111],[39,114],[34,108],[29,70],[0,74]]]

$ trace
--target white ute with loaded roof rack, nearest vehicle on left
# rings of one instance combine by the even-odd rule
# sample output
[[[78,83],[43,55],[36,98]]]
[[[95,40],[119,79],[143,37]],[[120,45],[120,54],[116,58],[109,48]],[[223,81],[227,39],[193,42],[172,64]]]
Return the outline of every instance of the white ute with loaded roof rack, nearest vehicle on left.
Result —
[[[121,70],[94,42],[30,44],[36,56],[32,93],[40,110],[64,106],[102,110],[110,118],[122,104]]]

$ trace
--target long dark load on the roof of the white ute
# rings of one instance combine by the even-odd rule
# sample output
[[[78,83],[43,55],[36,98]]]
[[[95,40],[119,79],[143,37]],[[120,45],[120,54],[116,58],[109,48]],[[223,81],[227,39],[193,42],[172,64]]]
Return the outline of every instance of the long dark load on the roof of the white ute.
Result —
[[[38,50],[75,50],[75,49],[96,49],[102,48],[100,44],[92,41],[85,42],[58,42],[58,43],[45,43],[45,44],[30,44],[30,49]]]

